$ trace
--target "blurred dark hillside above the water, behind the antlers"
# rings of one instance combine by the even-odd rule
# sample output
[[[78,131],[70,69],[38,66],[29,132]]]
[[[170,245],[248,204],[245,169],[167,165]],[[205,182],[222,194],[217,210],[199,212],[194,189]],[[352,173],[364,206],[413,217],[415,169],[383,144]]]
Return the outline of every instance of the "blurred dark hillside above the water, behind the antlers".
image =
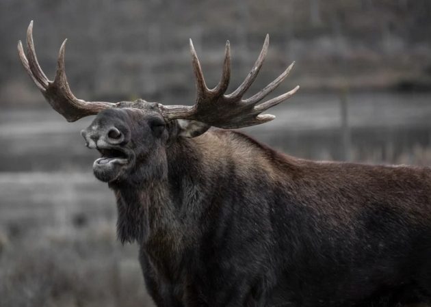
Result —
[[[430,16],[427,0],[2,0],[0,101],[42,105],[16,56],[31,19],[49,75],[62,40],[69,39],[66,66],[79,96],[190,103],[188,38],[210,85],[218,81],[224,42],[231,40],[237,85],[266,33],[270,51],[254,90],[293,60],[285,90],[296,84],[304,91],[429,90]]]

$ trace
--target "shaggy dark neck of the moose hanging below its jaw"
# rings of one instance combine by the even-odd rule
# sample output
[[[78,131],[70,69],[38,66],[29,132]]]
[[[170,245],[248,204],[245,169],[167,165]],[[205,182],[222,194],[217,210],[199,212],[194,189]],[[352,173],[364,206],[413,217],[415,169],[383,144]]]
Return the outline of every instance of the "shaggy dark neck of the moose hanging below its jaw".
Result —
[[[200,199],[195,184],[201,168],[200,150],[194,140],[183,139],[157,152],[159,165],[151,165],[151,171],[143,166],[127,181],[110,185],[117,200],[120,241],[136,241],[149,249],[164,245],[178,250],[187,245],[185,238],[194,231],[189,227],[194,223],[187,207],[197,206]]]

